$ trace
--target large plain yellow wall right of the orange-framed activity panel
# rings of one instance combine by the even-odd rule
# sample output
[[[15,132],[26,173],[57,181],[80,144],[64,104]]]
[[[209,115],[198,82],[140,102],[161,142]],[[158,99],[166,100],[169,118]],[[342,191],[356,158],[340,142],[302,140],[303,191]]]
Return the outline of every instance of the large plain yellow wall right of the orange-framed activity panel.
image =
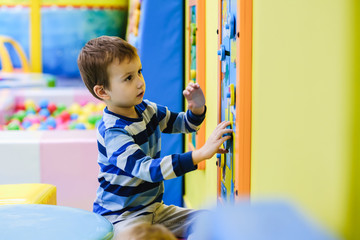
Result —
[[[353,0],[253,3],[252,197],[288,198],[346,234]]]

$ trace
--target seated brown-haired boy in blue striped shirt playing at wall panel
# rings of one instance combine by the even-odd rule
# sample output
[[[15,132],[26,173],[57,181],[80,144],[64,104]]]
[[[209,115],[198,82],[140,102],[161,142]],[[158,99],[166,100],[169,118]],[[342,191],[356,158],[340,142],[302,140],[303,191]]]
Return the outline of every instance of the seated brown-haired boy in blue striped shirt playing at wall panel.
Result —
[[[89,91],[106,103],[97,132],[100,186],[94,212],[112,222],[115,233],[148,222],[187,237],[196,211],[163,204],[163,180],[182,176],[216,152],[226,152],[219,147],[230,138],[223,137],[232,132],[226,129],[230,123],[220,123],[200,149],[160,157],[161,132],[199,129],[206,112],[200,86],[190,83],[184,90],[186,113],[143,100],[140,59],[136,49],[118,37],[90,40],[80,52],[78,66]]]

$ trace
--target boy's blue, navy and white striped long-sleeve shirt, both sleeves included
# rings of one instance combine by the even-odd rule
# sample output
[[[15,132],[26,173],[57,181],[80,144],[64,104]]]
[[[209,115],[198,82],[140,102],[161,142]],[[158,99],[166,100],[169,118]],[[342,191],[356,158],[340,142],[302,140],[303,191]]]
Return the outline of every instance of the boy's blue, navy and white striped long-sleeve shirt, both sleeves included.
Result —
[[[174,113],[147,100],[135,109],[140,116],[136,119],[105,108],[98,126],[100,186],[93,211],[110,218],[151,209],[162,201],[163,180],[197,168],[191,152],[160,157],[161,132],[197,131],[205,113]]]

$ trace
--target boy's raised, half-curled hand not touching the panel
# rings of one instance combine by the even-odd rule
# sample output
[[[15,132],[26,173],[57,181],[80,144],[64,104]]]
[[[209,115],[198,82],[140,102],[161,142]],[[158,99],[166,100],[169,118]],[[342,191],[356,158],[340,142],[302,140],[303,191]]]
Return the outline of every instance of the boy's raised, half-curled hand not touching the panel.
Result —
[[[188,108],[196,115],[201,115],[205,111],[205,97],[198,83],[190,82],[183,95],[188,102]]]

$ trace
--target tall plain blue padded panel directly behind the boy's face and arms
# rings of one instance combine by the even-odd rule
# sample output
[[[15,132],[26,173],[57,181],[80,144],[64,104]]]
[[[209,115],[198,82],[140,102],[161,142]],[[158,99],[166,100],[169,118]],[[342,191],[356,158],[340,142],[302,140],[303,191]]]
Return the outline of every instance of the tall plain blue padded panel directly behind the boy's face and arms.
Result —
[[[178,112],[183,110],[183,15],[181,0],[142,1],[137,45],[145,98]],[[182,135],[163,134],[162,143],[162,156],[183,152]],[[165,181],[164,202],[182,206],[182,177]]]

